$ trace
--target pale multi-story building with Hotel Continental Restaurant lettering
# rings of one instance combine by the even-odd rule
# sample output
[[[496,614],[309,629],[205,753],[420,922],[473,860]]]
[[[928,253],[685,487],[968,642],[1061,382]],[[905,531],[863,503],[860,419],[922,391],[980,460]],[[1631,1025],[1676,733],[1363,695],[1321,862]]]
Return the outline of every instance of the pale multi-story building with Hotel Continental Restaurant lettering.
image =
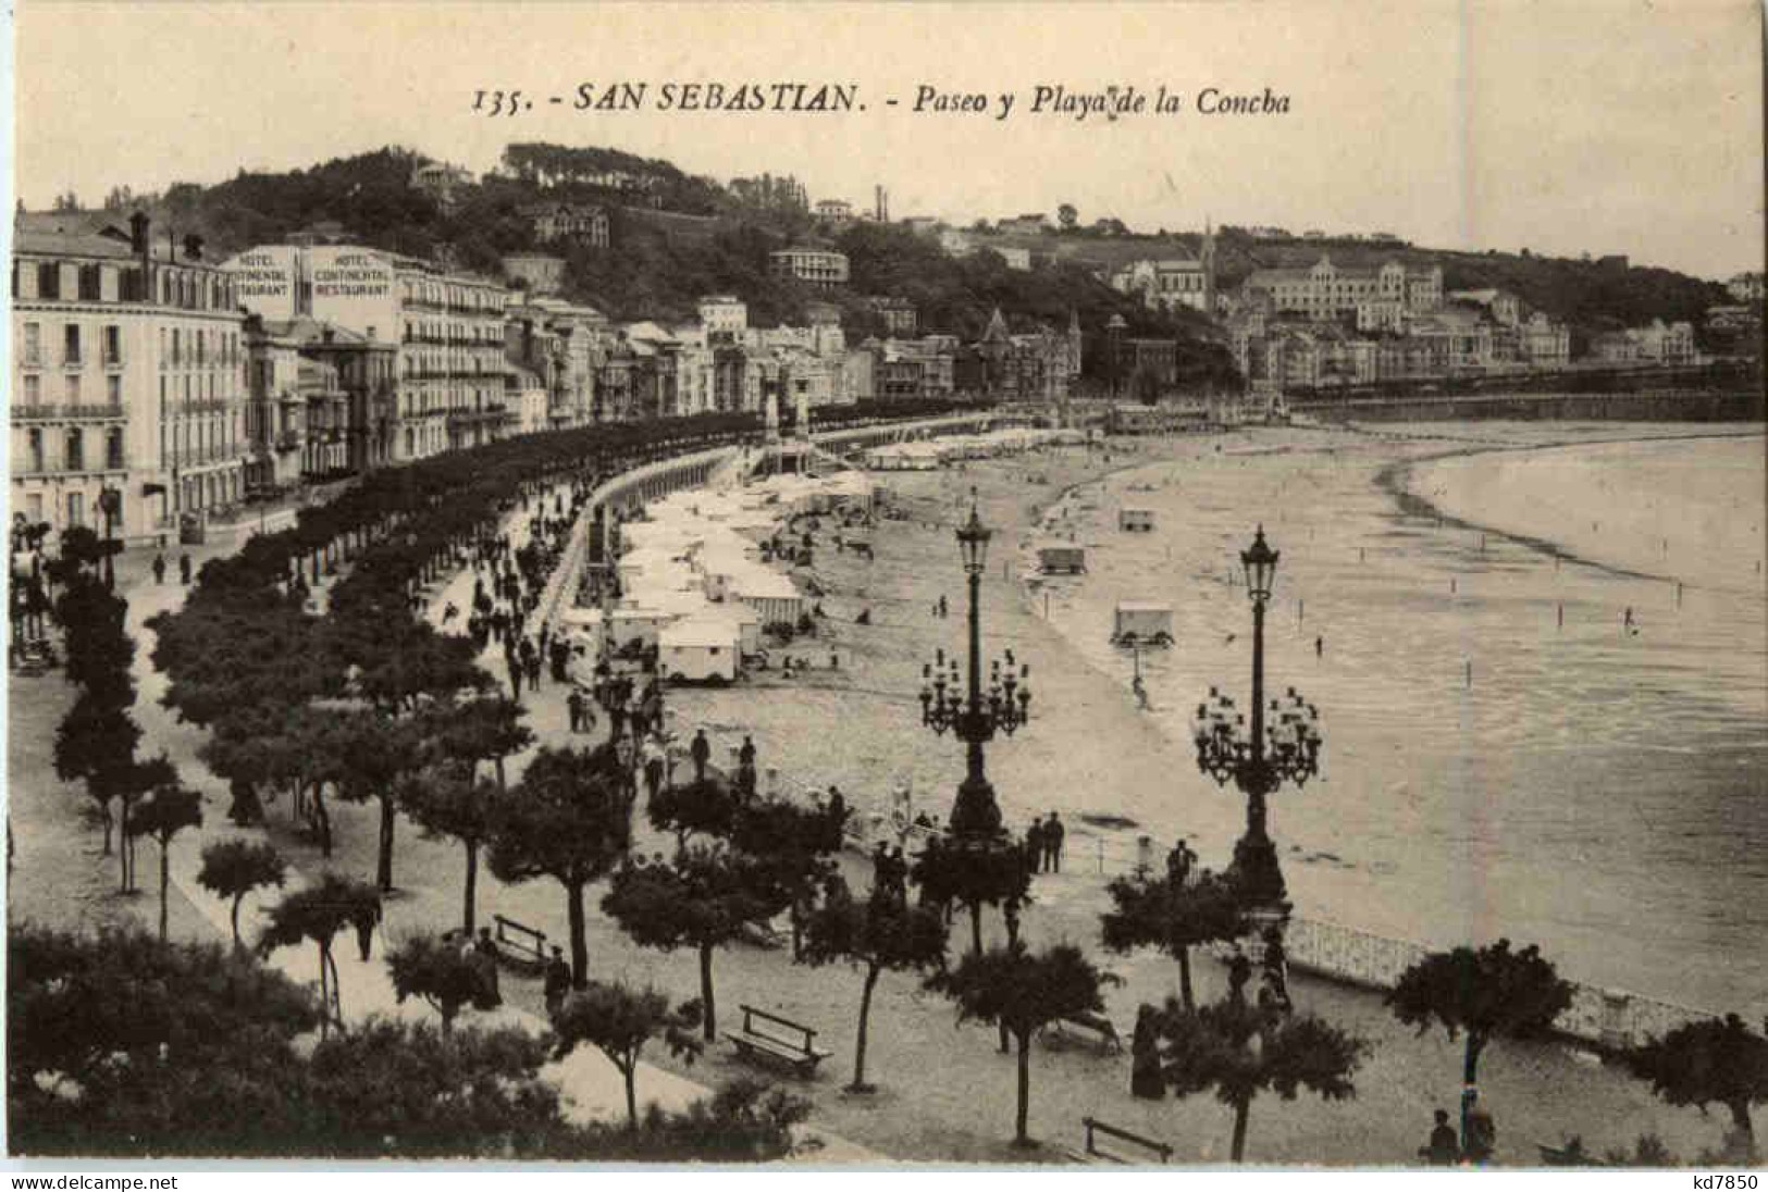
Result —
[[[256,315],[309,315],[398,343],[394,462],[490,442],[513,421],[504,409],[502,285],[348,244],[265,244],[225,267]]]

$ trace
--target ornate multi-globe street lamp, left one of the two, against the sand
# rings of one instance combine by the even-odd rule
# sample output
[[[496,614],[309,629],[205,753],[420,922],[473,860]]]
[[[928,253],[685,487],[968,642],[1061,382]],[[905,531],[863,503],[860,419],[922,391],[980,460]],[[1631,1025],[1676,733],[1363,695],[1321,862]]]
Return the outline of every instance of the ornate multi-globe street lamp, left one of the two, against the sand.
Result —
[[[988,539],[994,532],[976,513],[974,488],[971,518],[958,527],[956,536],[971,589],[969,684],[965,690],[958,660],[948,660],[941,649],[932,663],[921,667],[921,723],[939,736],[951,730],[967,746],[969,768],[951,808],[951,833],[999,837],[1001,808],[983,771],[983,746],[995,732],[1011,736],[1031,720],[1031,667],[1018,663],[1013,651],[1006,651],[1004,658],[990,667],[988,692],[983,693],[981,584],[988,566]]]

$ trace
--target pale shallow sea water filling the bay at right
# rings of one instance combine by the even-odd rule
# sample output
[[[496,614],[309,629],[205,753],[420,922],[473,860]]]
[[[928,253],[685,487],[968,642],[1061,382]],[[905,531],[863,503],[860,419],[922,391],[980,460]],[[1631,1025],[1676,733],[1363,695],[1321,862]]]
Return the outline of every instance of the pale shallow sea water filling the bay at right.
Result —
[[[1262,522],[1282,552],[1266,692],[1298,688],[1326,737],[1321,778],[1271,799],[1298,914],[1437,946],[1508,936],[1584,982],[1763,1013],[1761,433],[1441,451],[1275,439],[1086,486],[1064,525],[1089,575],[1052,584],[1052,623],[1128,688],[1114,603],[1172,603],[1176,646],[1139,661],[1183,757],[1211,684],[1246,704],[1238,552]],[[1156,531],[1119,532],[1124,504]],[[1091,798],[1162,849],[1188,806],[1218,822],[1236,798],[1195,773],[1174,787],[1158,806]]]

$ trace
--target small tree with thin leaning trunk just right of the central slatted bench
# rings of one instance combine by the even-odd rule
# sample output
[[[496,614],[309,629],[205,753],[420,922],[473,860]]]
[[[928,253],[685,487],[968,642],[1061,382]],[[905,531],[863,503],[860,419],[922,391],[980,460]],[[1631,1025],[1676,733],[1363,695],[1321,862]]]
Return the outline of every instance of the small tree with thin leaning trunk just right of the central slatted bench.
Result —
[[[939,907],[911,907],[905,900],[880,897],[875,890],[866,902],[857,902],[838,886],[810,913],[801,960],[813,966],[845,960],[865,971],[854,1040],[854,1079],[847,1089],[870,1093],[877,1088],[866,1084],[866,1019],[872,1013],[872,990],[886,969],[900,973],[942,967],[946,916]]]

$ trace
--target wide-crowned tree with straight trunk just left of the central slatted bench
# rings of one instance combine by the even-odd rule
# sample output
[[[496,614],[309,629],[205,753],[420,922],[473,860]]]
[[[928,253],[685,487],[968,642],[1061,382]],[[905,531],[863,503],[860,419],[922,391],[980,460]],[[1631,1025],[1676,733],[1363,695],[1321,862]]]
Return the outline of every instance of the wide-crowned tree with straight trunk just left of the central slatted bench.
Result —
[[[622,865],[601,900],[642,948],[693,948],[700,957],[705,1038],[718,1038],[713,953],[785,909],[789,895],[751,858],[690,844],[667,865]]]

